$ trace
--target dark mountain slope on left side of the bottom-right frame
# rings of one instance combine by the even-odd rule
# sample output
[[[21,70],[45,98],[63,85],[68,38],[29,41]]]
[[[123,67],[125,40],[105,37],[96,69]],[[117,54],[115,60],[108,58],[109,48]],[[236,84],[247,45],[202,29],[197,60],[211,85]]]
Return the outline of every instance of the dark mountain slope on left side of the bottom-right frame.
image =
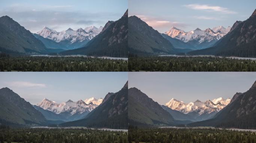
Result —
[[[129,125],[175,125],[174,118],[137,88],[128,89]]]

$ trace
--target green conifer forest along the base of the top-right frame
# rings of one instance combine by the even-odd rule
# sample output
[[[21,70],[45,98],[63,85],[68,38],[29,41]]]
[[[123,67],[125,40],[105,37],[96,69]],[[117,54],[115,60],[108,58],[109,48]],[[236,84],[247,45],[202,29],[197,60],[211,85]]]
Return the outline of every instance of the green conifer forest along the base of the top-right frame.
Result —
[[[129,71],[256,71],[255,60],[220,57],[129,57]]]

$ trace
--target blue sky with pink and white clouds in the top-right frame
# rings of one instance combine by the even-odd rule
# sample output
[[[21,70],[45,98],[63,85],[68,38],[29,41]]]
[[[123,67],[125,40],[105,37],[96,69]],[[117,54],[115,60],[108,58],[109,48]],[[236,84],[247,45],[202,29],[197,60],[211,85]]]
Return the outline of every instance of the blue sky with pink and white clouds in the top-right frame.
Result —
[[[137,16],[158,32],[172,26],[184,31],[232,26],[246,20],[256,0],[128,0],[129,16]]]

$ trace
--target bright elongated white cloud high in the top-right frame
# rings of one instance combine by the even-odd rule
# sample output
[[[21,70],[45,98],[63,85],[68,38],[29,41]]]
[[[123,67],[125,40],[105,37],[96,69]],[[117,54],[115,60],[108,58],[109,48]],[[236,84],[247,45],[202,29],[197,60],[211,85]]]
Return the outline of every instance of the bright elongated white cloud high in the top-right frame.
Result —
[[[207,10],[211,12],[222,12],[226,14],[235,14],[237,12],[231,11],[228,8],[220,7],[220,6],[209,6],[207,4],[188,4],[185,7],[195,10]]]

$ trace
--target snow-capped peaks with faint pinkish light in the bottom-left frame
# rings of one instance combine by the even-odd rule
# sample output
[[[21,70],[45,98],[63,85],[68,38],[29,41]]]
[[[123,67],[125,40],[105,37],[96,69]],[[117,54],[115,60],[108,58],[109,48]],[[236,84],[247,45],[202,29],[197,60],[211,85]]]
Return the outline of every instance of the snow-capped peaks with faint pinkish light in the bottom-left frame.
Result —
[[[98,104],[98,102],[97,102]],[[98,104],[100,105],[100,104]],[[63,112],[68,112],[70,115],[73,114],[82,114],[83,112],[91,112],[93,109],[95,109],[98,105],[93,104],[92,102],[89,102],[89,104],[86,104],[81,99],[77,102],[73,102],[71,100],[68,100],[67,102],[62,102],[60,104],[57,104],[55,101],[51,101],[48,99],[43,99],[42,102],[37,104],[37,106],[54,112],[55,114],[60,114]]]

